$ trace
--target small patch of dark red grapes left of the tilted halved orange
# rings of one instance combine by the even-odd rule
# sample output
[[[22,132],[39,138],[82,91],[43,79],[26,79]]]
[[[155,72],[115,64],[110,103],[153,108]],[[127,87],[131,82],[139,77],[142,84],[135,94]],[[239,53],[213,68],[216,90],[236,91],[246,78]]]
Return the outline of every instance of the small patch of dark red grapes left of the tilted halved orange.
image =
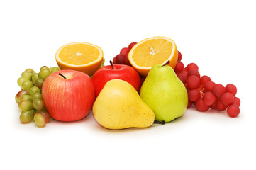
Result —
[[[128,53],[130,49],[136,44],[137,42],[131,42],[128,47],[123,47],[116,57],[113,57],[113,64],[126,64],[131,66],[130,61],[128,59]]]

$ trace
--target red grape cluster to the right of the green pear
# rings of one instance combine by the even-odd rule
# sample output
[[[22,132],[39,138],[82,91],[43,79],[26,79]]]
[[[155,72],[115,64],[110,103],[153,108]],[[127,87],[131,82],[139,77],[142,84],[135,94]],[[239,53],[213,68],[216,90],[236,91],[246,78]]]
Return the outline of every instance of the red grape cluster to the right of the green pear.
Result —
[[[210,77],[199,73],[199,67],[190,63],[186,67],[182,63],[182,54],[178,52],[178,62],[174,68],[177,77],[184,83],[189,96],[188,108],[193,104],[198,111],[208,111],[209,108],[225,111],[235,118],[240,113],[240,99],[235,96],[236,86],[233,84],[214,83]]]

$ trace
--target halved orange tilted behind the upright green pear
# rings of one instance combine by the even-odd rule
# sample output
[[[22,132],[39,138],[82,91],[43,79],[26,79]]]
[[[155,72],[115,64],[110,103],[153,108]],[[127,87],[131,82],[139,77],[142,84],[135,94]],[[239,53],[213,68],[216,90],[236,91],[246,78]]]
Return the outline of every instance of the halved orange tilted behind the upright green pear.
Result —
[[[178,60],[178,50],[175,42],[166,37],[146,38],[135,44],[128,54],[130,64],[142,76],[147,76],[151,67],[165,64],[174,69]]]

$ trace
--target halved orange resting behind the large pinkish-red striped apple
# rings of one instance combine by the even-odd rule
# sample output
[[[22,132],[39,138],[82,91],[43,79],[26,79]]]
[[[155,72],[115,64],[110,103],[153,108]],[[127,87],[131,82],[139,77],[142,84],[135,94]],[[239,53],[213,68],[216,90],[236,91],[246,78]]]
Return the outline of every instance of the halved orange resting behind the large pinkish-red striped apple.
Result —
[[[88,42],[72,42],[60,47],[55,59],[60,69],[74,69],[90,76],[101,66],[103,51]]]

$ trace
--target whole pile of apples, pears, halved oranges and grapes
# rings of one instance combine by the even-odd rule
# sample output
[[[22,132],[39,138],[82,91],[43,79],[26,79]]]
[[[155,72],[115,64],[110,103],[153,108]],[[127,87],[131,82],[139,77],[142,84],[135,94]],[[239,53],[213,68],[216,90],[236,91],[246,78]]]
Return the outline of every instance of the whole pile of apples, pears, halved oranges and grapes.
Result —
[[[240,113],[235,85],[214,83],[194,63],[184,67],[169,38],[132,42],[107,66],[101,48],[87,42],[63,45],[55,60],[60,68],[26,69],[18,79],[21,123],[34,120],[44,127],[50,118],[76,121],[91,108],[96,121],[109,129],[165,124],[193,105],[198,111],[227,110],[232,118]]]

